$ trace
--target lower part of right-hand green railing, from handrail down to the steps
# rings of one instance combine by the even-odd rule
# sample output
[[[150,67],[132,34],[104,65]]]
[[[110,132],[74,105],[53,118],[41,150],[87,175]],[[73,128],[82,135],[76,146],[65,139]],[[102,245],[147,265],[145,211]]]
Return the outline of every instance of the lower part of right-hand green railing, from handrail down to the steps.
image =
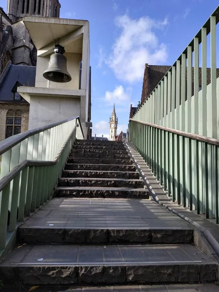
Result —
[[[172,201],[219,223],[219,140],[130,119],[129,141]]]

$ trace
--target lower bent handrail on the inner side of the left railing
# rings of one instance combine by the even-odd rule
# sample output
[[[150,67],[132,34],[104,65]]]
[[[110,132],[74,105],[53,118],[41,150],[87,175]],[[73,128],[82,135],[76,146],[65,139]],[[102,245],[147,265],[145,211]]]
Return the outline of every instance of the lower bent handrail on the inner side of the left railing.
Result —
[[[79,124],[76,124],[74,126],[71,134],[69,135],[68,139],[66,140],[65,144],[63,145],[61,151],[59,151],[55,160],[53,160],[53,161],[36,161],[36,160],[23,160],[23,161],[21,161],[16,167],[14,167],[6,176],[4,176],[0,180],[0,191],[2,191],[3,188],[8,183],[10,183],[16,177],[16,175],[26,166],[51,166],[51,165],[55,165],[57,163],[59,157],[61,156],[62,152],[64,151],[65,146],[68,144],[69,140],[71,139],[73,132],[75,131],[75,129],[77,127],[79,127]]]

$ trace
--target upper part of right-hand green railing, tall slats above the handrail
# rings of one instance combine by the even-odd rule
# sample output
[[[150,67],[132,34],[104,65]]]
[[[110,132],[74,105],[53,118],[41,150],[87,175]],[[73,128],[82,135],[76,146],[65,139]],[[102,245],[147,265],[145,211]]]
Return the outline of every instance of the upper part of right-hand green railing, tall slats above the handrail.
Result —
[[[219,6],[145,96],[134,120],[219,139],[218,22]]]

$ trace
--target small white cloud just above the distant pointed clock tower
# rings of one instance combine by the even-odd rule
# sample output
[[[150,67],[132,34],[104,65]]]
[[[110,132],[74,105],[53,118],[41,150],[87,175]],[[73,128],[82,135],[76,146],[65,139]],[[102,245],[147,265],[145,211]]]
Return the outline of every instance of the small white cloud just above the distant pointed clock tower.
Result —
[[[122,85],[116,86],[113,91],[106,91],[105,99],[108,105],[124,105],[126,102],[130,102],[131,98],[131,87],[124,90]]]

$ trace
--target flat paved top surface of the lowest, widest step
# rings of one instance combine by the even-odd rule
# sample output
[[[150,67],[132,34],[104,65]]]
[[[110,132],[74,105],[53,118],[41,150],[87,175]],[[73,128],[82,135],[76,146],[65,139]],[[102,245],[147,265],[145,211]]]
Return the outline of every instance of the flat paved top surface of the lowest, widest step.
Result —
[[[0,267],[19,266],[147,266],[213,264],[190,244],[171,245],[24,245],[15,248]]]

